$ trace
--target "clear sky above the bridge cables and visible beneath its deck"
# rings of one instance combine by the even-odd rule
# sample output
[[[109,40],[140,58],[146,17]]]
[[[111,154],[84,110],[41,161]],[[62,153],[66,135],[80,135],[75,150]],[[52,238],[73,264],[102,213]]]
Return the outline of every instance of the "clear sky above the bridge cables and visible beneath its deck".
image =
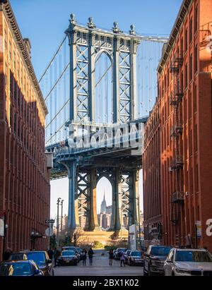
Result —
[[[88,22],[89,16],[93,16],[98,28],[110,29],[116,20],[124,31],[134,24],[139,33],[168,35],[181,4],[182,0],[11,0],[21,33],[23,37],[30,38],[37,78],[40,78],[63,39],[71,13],[76,15],[78,23],[83,24]],[[54,217],[58,197],[64,198],[64,212],[67,212],[68,181],[53,181],[51,187],[51,215]],[[139,187],[142,195],[142,181]],[[110,183],[99,183],[98,210],[104,191],[107,192],[107,204],[111,204]]]

